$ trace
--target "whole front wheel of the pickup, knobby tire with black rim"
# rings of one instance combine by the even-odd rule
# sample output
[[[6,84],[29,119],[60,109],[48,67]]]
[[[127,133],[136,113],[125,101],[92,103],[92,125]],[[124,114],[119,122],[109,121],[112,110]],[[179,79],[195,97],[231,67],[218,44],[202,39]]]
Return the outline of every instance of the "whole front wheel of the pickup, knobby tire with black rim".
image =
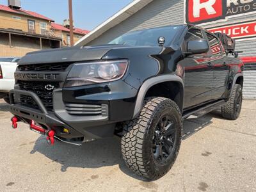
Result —
[[[132,171],[155,180],[163,177],[175,162],[182,120],[173,100],[151,97],[144,103],[140,115],[124,125],[122,156]]]

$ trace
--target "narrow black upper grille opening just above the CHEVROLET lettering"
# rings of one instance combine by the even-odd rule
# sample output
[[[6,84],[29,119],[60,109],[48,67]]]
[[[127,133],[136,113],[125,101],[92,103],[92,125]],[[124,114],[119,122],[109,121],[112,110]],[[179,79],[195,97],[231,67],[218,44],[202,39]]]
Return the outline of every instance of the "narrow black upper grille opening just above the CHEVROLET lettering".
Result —
[[[19,71],[64,71],[70,63],[52,63],[52,64],[33,64],[33,65],[19,65]]]

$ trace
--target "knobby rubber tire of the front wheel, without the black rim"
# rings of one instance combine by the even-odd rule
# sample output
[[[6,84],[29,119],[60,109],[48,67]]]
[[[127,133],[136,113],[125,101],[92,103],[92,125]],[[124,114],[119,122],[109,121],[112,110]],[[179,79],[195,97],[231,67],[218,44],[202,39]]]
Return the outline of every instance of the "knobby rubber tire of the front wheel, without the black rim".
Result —
[[[159,106],[161,102],[167,102],[167,101],[168,101],[168,104],[172,106],[172,108],[179,111],[179,115],[180,115],[179,107],[173,100],[170,100],[164,97],[150,97],[145,99],[143,103],[144,107],[143,109],[141,109],[140,115],[138,115],[137,118],[134,118],[132,120],[129,120],[128,122],[125,122],[125,125],[124,125],[124,132],[123,132],[124,136],[122,137],[122,140],[121,140],[121,150],[122,150],[122,156],[125,160],[125,163],[131,170],[136,172],[138,175],[141,175],[148,179],[158,179],[162,177],[165,173],[167,173],[172,167],[172,165],[170,165],[170,168],[161,175],[152,175],[152,173],[150,172],[150,169],[148,168],[147,159],[144,159],[143,157],[143,140],[144,140],[145,134],[147,134],[148,132],[148,127],[150,127],[149,125],[152,121],[152,116],[154,116],[154,113],[157,110],[161,110],[161,109],[157,109],[157,106]],[[181,136],[180,136],[180,141],[181,141]],[[176,159],[178,152],[179,152],[179,147],[175,154],[174,159]]]

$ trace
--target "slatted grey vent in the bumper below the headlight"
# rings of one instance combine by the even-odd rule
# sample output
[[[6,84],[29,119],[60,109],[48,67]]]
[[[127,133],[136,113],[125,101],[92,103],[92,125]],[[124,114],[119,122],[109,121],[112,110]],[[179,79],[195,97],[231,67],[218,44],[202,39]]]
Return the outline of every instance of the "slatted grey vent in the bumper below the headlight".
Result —
[[[107,104],[65,104],[65,106],[70,115],[108,116]]]

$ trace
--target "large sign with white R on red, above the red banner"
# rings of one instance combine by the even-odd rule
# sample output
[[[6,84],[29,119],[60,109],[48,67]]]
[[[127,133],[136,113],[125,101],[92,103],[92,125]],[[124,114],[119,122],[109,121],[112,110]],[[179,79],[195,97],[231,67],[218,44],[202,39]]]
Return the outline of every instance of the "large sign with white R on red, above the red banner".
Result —
[[[255,0],[186,0],[185,17],[188,24],[201,24],[253,12]]]

